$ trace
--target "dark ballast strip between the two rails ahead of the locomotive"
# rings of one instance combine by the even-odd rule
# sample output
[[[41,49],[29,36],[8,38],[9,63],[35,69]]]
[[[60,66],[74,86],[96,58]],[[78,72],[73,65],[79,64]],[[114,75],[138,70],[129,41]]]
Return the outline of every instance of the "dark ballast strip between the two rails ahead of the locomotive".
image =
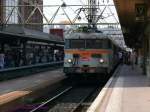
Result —
[[[48,112],[76,112],[94,91],[95,88],[93,87],[73,88],[62,99],[57,101]]]

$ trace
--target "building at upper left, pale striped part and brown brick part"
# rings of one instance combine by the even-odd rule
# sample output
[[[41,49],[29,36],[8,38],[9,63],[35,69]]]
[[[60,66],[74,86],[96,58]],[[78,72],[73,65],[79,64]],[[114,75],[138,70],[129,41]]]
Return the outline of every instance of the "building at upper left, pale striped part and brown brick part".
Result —
[[[35,8],[34,4],[41,5],[40,10],[41,12],[43,12],[43,0],[0,0],[0,24],[5,24],[6,21],[7,24],[25,23],[25,21],[29,18],[30,14]],[[14,8],[14,6],[16,7]],[[28,25],[24,25],[24,27],[28,29],[43,31],[42,24],[43,16],[37,9],[29,18]]]

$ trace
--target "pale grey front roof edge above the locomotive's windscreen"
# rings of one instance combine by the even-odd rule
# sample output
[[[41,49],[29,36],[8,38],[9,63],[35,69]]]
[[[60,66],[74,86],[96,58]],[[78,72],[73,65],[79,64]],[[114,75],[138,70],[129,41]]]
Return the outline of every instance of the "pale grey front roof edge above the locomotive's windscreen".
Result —
[[[65,39],[108,39],[108,36],[96,32],[73,32],[66,35]]]

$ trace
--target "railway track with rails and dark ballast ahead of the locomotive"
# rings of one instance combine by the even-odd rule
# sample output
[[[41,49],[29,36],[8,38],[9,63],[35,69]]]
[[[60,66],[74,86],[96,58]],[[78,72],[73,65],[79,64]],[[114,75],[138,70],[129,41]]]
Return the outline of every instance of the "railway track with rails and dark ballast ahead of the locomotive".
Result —
[[[92,98],[97,90],[99,93],[98,88],[101,89],[101,86],[70,86],[42,103],[24,105],[13,112],[84,112],[92,103],[88,102],[89,98]]]

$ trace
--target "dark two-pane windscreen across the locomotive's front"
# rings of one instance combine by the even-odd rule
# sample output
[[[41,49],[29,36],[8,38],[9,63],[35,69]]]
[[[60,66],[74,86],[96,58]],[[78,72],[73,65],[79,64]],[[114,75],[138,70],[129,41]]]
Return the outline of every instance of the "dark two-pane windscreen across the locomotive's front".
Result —
[[[66,49],[108,49],[110,48],[108,39],[67,39],[65,40]]]

